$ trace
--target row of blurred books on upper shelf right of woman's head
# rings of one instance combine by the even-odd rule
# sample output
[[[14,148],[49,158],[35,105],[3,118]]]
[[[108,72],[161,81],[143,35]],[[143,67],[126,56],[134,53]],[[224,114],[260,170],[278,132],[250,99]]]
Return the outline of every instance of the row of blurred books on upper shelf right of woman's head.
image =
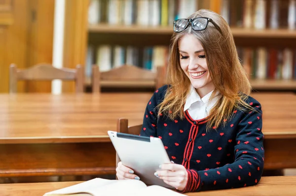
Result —
[[[296,0],[222,0],[221,15],[230,27],[295,29]]]

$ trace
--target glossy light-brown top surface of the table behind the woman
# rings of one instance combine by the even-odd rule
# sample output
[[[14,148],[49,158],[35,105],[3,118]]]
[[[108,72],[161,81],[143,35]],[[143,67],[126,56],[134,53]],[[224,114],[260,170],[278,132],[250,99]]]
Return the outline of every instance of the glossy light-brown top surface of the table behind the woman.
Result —
[[[151,93],[0,94],[0,143],[110,141],[119,117],[141,124]],[[254,93],[265,138],[296,138],[296,95]]]

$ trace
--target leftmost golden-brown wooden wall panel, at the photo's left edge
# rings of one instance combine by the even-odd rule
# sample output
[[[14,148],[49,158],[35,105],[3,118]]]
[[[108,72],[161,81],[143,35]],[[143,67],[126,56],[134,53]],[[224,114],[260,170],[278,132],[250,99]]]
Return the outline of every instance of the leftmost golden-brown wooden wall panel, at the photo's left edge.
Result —
[[[28,34],[28,0],[0,1],[0,92],[8,92],[9,65],[26,67]],[[18,91],[25,90],[25,83],[18,84]]]

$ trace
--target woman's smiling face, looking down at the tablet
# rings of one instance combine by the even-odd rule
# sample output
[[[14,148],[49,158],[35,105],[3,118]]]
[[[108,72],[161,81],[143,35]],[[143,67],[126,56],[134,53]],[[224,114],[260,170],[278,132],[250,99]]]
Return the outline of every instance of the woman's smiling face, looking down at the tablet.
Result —
[[[215,88],[203,47],[192,34],[183,36],[178,44],[181,68],[202,98]]]

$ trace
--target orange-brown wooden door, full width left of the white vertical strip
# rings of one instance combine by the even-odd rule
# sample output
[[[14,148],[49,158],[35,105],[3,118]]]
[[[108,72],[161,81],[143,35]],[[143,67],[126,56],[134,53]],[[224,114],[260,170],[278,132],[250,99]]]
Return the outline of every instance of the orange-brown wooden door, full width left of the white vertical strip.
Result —
[[[0,0],[0,93],[7,93],[9,65],[52,63],[54,0]],[[18,82],[18,92],[50,92],[50,82]]]

